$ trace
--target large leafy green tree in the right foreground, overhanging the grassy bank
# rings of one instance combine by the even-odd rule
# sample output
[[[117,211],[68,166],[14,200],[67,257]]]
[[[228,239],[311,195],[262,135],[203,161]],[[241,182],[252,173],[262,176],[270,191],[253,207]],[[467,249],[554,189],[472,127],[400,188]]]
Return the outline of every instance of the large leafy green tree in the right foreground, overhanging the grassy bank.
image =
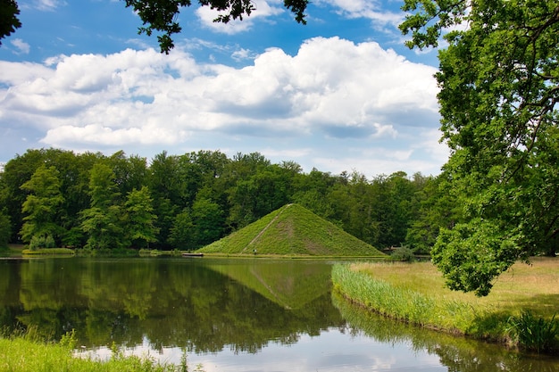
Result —
[[[444,169],[463,223],[432,253],[449,287],[487,295],[517,260],[559,251],[559,4],[406,0],[408,45],[438,54]],[[461,26],[461,27],[457,27]]]

